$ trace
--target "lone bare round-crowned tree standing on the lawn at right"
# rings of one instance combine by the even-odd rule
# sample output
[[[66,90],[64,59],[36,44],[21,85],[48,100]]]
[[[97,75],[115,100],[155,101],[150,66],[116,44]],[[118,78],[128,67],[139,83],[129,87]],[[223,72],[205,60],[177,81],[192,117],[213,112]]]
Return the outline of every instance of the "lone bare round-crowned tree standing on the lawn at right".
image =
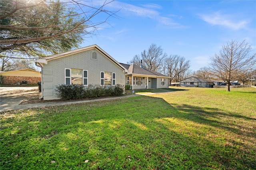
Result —
[[[227,83],[227,91],[230,91],[230,81],[238,80],[241,72],[249,72],[256,63],[255,57],[256,53],[252,53],[252,47],[245,40],[232,40],[211,57],[210,67],[215,76]]]

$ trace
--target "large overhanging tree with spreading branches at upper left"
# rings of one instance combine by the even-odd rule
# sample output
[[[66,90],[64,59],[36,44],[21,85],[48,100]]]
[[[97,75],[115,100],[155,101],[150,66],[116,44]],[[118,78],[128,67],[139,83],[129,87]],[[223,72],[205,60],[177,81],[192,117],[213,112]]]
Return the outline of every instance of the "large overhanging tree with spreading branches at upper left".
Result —
[[[43,57],[77,48],[115,16],[104,9],[111,2],[97,7],[84,0],[1,0],[0,56],[17,58],[14,52],[19,52],[28,58]],[[102,20],[92,22],[99,14],[105,14]]]

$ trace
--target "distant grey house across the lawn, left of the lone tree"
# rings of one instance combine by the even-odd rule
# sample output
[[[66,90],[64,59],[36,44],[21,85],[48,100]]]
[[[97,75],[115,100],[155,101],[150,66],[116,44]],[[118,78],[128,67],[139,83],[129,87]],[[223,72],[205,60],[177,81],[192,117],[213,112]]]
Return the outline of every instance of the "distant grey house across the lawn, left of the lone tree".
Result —
[[[198,77],[189,77],[180,81],[180,87],[213,87],[215,81]]]

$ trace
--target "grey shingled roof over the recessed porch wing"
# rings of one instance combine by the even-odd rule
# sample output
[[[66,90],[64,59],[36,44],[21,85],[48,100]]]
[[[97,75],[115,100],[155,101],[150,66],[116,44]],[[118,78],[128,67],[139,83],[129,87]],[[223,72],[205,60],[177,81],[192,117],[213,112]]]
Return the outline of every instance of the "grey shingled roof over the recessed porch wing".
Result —
[[[128,73],[127,74],[138,74],[138,75],[151,75],[151,76],[158,76],[158,77],[168,77],[166,75],[163,75],[161,73],[157,73],[155,71],[146,69],[146,68],[141,68],[139,65],[134,65],[134,64],[124,64],[124,63],[120,63],[121,65],[123,65],[127,70]]]

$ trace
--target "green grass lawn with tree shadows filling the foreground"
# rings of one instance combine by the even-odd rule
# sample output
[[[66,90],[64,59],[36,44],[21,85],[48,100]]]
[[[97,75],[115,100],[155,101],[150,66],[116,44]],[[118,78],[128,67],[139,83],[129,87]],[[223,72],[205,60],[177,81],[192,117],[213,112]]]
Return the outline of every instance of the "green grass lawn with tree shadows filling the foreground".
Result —
[[[256,88],[3,112],[0,169],[256,169]]]

